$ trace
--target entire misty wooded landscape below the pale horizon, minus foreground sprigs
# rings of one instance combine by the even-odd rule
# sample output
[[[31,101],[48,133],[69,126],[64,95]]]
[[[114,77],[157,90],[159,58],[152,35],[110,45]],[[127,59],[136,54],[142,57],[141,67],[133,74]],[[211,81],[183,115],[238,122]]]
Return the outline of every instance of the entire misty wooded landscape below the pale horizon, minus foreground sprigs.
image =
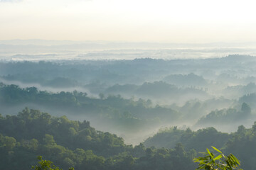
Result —
[[[192,170],[211,146],[255,169],[255,63],[2,61],[0,169],[41,155],[63,169]]]

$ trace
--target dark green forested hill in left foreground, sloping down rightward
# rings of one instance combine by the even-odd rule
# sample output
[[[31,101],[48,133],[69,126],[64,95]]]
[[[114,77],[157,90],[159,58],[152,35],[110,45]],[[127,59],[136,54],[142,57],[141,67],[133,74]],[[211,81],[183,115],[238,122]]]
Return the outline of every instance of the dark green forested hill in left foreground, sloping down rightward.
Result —
[[[97,131],[87,121],[53,117],[25,108],[18,115],[0,115],[0,169],[27,170],[42,155],[63,169],[188,169],[194,150],[125,145],[122,138]]]

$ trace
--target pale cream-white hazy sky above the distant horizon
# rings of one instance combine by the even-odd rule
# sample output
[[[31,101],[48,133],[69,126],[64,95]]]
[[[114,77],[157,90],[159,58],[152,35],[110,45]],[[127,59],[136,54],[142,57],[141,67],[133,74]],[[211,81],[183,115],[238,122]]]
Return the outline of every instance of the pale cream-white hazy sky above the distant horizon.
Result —
[[[0,0],[0,40],[256,41],[256,3]]]

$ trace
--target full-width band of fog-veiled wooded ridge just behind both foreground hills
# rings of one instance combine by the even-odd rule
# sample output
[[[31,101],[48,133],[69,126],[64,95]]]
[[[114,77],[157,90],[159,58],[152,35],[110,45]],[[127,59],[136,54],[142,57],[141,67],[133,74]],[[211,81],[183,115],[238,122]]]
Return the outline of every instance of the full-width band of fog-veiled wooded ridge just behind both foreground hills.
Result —
[[[87,119],[98,129],[107,129],[109,132],[122,135],[126,142],[133,144],[138,144],[152,135],[152,132],[169,125],[185,128],[190,126],[191,129],[218,125],[218,128],[232,132],[238,125],[252,124],[256,120],[254,109],[243,102],[245,99],[242,98],[233,108],[215,109],[203,114],[209,103],[220,103],[225,100],[220,98],[204,103],[188,101],[183,106],[160,106],[152,103],[150,99],[136,100],[120,95],[103,94],[95,98],[79,91],[54,93],[39,91],[36,87],[21,88],[14,84],[0,84],[1,112],[15,114],[29,106],[53,115],[64,114],[73,120]],[[138,137],[141,132],[143,135]]]

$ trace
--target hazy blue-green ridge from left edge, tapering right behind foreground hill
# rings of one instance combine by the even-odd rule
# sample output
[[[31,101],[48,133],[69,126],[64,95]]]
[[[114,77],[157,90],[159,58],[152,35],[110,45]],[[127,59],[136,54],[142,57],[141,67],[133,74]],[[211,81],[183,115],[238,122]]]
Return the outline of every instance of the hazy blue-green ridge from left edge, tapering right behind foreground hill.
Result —
[[[92,98],[78,91],[52,93],[35,87],[22,89],[14,84],[0,84],[0,106],[0,112],[9,114],[28,106],[53,115],[90,120],[95,128],[125,134],[127,140],[137,132],[156,129],[163,123],[178,123],[182,117],[171,108],[152,105],[150,100],[125,99],[119,95]],[[128,142],[131,141],[138,140]]]

